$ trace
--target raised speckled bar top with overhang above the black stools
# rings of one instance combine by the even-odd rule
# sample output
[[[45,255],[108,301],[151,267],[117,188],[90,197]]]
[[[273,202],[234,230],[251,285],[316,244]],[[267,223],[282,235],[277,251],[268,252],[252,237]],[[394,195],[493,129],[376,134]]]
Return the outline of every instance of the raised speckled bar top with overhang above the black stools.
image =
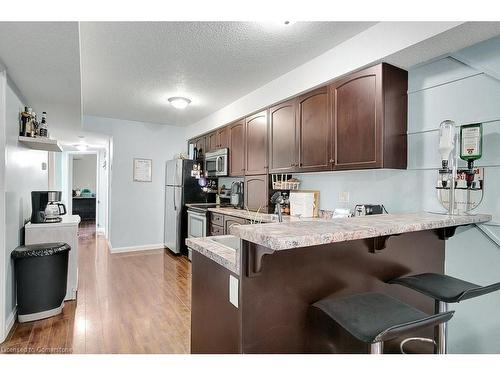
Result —
[[[231,234],[272,250],[287,250],[334,242],[417,232],[491,220],[491,215],[448,216],[426,212],[384,214],[351,218],[302,219],[231,228]]]

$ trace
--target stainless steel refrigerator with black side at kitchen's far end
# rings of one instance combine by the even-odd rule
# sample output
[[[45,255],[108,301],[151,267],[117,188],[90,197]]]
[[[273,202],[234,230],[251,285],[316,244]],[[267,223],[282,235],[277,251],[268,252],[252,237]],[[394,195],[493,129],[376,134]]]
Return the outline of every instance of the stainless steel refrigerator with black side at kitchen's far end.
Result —
[[[176,254],[187,255],[187,203],[210,203],[213,194],[205,193],[198,180],[191,177],[195,161],[167,161],[165,170],[165,228],[164,245]]]

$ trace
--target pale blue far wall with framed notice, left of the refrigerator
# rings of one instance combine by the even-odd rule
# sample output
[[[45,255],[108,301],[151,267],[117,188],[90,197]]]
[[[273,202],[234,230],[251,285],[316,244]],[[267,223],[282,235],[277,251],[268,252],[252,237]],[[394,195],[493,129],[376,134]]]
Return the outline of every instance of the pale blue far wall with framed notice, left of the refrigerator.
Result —
[[[110,242],[114,251],[163,247],[165,163],[186,151],[185,129],[85,116],[84,130],[112,137]],[[134,182],[134,158],[153,160],[153,181]]]

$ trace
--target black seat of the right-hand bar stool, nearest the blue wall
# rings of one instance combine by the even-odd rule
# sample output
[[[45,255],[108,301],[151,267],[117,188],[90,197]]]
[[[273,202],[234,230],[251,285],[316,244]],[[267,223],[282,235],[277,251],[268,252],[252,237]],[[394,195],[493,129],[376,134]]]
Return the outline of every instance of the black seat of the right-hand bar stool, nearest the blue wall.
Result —
[[[399,284],[416,290],[437,301],[456,303],[479,297],[500,289],[500,283],[481,286],[455,277],[437,273],[422,273],[390,280],[389,284]]]

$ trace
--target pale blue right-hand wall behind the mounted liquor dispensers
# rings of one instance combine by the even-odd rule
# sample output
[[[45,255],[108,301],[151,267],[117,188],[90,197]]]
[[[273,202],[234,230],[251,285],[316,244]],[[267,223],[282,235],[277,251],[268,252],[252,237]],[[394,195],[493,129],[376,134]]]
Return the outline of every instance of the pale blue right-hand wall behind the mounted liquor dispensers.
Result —
[[[483,157],[476,165],[485,167],[485,196],[478,211],[500,222],[500,81],[482,74],[484,67],[500,77],[500,38],[460,51],[472,64],[446,58],[410,72],[409,138],[410,167],[426,175],[422,191],[424,209],[437,207],[432,179],[439,166],[437,148],[439,123],[483,123]],[[497,238],[500,228],[486,226]],[[467,227],[446,244],[446,273],[473,283],[499,282],[500,248],[478,228]],[[452,353],[500,353],[500,293],[467,300],[451,306],[456,310],[449,324]]]

